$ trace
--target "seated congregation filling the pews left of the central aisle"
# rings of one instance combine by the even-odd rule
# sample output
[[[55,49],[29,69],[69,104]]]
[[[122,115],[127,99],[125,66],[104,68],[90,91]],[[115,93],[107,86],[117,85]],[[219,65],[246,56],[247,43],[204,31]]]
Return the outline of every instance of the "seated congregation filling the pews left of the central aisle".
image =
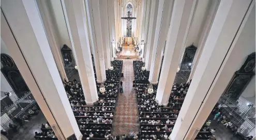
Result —
[[[106,70],[106,82],[96,83],[99,100],[92,106],[86,104],[80,82],[76,79],[64,82],[70,106],[76,117],[79,129],[83,134],[82,139],[107,139],[112,137],[113,117],[115,115],[116,101],[119,93],[123,61],[114,60],[111,61],[111,65],[113,66],[113,70]],[[100,91],[102,87],[105,89],[103,92]],[[43,128],[43,134],[48,134],[48,132],[54,135],[51,128],[49,130]],[[41,137],[41,135],[41,133],[40,135],[36,134],[35,137]],[[55,137],[47,137],[45,139],[49,138],[54,139]]]

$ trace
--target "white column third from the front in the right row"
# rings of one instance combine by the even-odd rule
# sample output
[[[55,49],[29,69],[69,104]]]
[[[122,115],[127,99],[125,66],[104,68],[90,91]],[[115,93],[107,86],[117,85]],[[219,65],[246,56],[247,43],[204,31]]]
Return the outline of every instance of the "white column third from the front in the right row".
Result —
[[[167,33],[170,25],[169,23],[172,15],[172,3],[173,1],[170,0],[159,1],[158,15],[156,20],[156,31],[153,44],[153,55],[148,79],[153,84],[158,83],[165,40],[167,38]]]

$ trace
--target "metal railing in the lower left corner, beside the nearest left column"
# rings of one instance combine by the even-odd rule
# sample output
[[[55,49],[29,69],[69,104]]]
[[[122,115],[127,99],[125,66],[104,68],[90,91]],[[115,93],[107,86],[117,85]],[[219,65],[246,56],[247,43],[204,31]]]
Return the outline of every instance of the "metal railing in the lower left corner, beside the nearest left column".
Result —
[[[28,110],[33,109],[33,107],[37,104],[31,92],[25,92],[22,98],[16,98],[14,93],[9,96],[9,98],[14,98],[15,100],[12,100],[13,103],[7,107],[4,107],[1,112],[1,127],[6,131],[9,130],[10,123],[19,126],[19,124],[14,121],[14,118],[22,118],[23,115],[28,112]]]

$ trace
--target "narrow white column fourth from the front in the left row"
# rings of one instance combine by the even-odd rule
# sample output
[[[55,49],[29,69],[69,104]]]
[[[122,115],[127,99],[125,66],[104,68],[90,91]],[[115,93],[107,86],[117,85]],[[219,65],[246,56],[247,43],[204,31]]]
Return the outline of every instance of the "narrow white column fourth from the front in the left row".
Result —
[[[110,68],[110,32],[109,32],[109,15],[107,1],[99,1],[100,22],[102,32],[102,43],[104,52],[105,68]],[[114,22],[114,21],[113,21]]]

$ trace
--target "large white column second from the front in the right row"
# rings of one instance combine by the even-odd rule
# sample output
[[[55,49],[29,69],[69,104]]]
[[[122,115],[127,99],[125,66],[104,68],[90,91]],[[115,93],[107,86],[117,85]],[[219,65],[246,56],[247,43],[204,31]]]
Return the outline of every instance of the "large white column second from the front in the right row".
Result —
[[[168,104],[172,84],[176,75],[180,49],[185,45],[196,1],[174,1],[170,28],[164,51],[162,71],[158,83],[156,101]]]

